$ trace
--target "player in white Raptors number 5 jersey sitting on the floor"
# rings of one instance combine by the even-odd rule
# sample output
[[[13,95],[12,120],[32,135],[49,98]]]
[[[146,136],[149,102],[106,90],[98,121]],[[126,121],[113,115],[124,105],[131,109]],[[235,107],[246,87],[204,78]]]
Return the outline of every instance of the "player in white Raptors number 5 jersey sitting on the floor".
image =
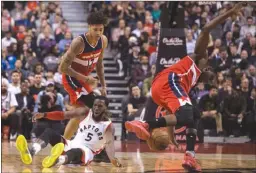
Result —
[[[33,116],[34,120],[41,118],[63,120],[80,117],[81,121],[73,140],[66,140],[57,132],[47,128],[36,139],[36,142],[28,146],[25,137],[20,135],[16,140],[16,147],[20,152],[22,162],[31,164],[32,156],[50,143],[54,147],[51,149],[51,155],[42,162],[45,168],[69,163],[88,165],[94,155],[104,148],[111,163],[120,167],[120,162],[115,158],[114,127],[107,117],[108,103],[106,97],[97,96],[92,109],[84,106],[66,112],[36,113]]]

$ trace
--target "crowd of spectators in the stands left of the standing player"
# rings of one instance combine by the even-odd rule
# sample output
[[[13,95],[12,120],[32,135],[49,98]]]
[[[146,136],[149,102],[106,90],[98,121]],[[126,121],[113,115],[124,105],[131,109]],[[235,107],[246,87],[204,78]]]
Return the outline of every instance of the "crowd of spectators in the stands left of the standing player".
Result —
[[[64,122],[32,123],[33,112],[70,109],[57,67],[72,33],[58,2],[2,2],[2,138],[61,133]]]

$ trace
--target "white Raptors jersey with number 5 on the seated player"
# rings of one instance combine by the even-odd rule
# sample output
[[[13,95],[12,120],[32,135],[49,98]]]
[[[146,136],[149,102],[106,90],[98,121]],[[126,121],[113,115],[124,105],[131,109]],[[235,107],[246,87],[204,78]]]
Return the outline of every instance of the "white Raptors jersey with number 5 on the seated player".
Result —
[[[72,143],[84,145],[95,153],[100,152],[107,142],[107,139],[105,139],[105,131],[111,123],[110,120],[94,121],[92,110],[90,109],[88,116],[80,122],[79,129]]]

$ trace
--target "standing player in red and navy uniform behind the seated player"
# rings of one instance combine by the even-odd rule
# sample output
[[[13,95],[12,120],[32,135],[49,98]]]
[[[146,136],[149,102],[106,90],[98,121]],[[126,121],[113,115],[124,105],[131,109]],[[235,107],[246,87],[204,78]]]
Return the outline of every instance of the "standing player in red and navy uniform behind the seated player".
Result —
[[[103,53],[108,40],[103,35],[107,18],[101,12],[91,13],[87,20],[88,33],[76,37],[68,51],[63,55],[59,71],[68,92],[71,104],[78,107],[85,104],[91,108],[94,94],[92,87],[97,85],[97,79],[89,76],[95,69],[101,83],[101,93],[106,96],[106,82],[104,77]],[[78,119],[71,119],[66,126],[64,137],[70,139],[78,128]]]

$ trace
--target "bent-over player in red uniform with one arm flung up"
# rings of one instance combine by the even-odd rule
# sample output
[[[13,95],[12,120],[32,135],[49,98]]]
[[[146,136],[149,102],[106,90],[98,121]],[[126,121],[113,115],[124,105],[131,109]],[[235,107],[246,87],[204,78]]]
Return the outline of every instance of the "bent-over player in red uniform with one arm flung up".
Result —
[[[194,54],[184,57],[177,64],[163,70],[155,77],[151,88],[152,98],[156,104],[164,107],[168,114],[152,121],[125,123],[128,131],[136,133],[137,137],[143,140],[149,139],[149,131],[154,128],[175,126],[176,124],[186,126],[187,148],[182,166],[189,171],[201,171],[201,168],[194,158],[197,131],[193,120],[192,103],[188,93],[196,84],[199,76],[199,80],[206,83],[209,83],[214,78],[214,73],[206,68],[210,31],[216,25],[223,23],[228,17],[235,15],[242,6],[242,2],[237,3],[232,9],[206,24],[198,37]]]

